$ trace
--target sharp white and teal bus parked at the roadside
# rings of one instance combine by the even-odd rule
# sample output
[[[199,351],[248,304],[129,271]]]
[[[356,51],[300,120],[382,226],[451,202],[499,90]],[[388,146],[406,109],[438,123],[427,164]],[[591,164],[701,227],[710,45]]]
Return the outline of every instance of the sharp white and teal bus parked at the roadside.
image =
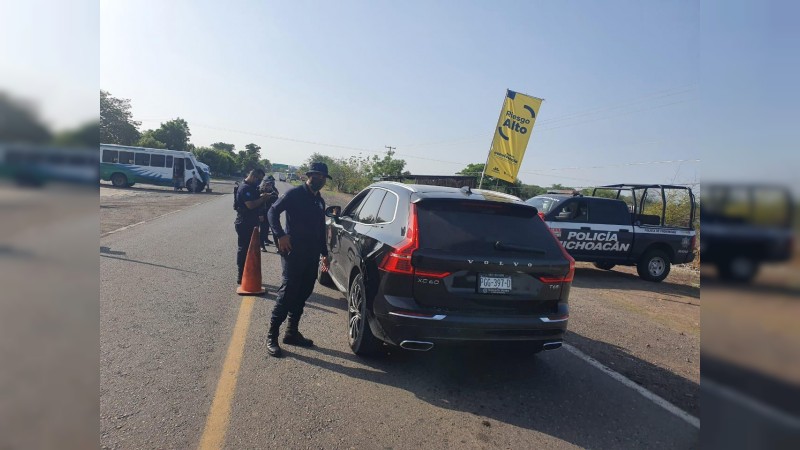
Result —
[[[208,186],[210,173],[199,164],[190,152],[100,144],[100,179],[117,187],[136,183],[172,186],[177,176],[189,191],[201,191]],[[199,186],[194,186],[192,171],[197,172]]]

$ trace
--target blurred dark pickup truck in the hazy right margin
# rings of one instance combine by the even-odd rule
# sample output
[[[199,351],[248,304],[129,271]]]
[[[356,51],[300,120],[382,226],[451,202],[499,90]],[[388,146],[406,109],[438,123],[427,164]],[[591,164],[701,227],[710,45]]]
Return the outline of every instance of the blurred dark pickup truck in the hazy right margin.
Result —
[[[783,186],[703,185],[701,264],[717,266],[720,278],[751,281],[762,263],[791,259],[794,200]]]

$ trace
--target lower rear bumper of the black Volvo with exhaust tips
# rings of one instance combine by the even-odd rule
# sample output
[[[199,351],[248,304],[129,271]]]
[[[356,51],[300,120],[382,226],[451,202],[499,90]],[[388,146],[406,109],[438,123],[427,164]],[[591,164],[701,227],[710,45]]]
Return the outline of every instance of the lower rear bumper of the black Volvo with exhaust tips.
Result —
[[[376,299],[377,300],[377,299]],[[382,299],[383,300],[383,299]],[[393,299],[394,300],[394,299]],[[477,315],[436,313],[433,317],[409,317],[405,312],[428,311],[409,308],[410,299],[402,299],[397,308],[392,301],[376,305],[374,319],[388,343],[400,345],[405,340],[432,343],[469,341],[561,341],[567,331],[568,307],[559,305],[558,315]],[[377,331],[377,330],[376,330]]]

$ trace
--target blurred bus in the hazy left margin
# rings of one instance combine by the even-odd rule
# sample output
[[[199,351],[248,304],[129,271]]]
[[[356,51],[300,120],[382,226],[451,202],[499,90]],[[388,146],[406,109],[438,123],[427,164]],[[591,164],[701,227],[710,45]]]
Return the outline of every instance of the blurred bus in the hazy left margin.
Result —
[[[0,145],[0,178],[20,185],[42,186],[49,181],[93,184],[97,175],[96,148]]]

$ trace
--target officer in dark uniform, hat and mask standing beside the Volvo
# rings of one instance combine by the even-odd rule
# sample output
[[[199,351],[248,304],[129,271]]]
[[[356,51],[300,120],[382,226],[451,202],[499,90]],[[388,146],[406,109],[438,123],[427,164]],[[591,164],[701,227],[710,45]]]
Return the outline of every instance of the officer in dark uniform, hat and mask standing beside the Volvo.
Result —
[[[278,289],[278,301],[272,310],[267,332],[267,352],[280,357],[278,345],[280,327],[286,317],[289,324],[283,343],[313,347],[314,341],[306,339],[298,330],[300,316],[306,300],[314,290],[317,269],[321,264],[328,270],[328,249],[325,245],[325,200],[319,191],[325,186],[328,166],[321,162],[311,164],[306,172],[305,184],[292,188],[281,197],[268,213],[272,235],[281,254],[283,280]],[[281,227],[280,215],[286,213],[286,231]]]

